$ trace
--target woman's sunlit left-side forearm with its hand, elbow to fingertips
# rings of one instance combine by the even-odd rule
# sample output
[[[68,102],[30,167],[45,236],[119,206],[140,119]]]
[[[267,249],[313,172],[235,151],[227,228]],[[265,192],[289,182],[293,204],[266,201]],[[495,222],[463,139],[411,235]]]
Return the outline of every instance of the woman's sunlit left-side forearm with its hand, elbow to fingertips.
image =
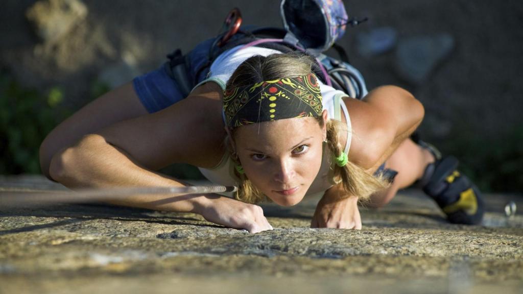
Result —
[[[97,134],[88,135],[67,148],[60,158],[53,157],[51,167],[51,175],[67,187],[185,186],[179,180],[140,167]],[[259,206],[219,195],[129,195],[109,203],[198,213],[210,222],[250,233],[272,229]]]

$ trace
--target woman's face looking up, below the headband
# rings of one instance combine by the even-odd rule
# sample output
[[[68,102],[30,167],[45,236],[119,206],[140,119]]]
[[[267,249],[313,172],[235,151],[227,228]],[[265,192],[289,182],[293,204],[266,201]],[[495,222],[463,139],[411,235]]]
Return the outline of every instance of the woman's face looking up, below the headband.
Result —
[[[290,118],[240,127],[234,139],[254,186],[279,205],[291,206],[303,199],[320,171],[325,135],[315,118]]]

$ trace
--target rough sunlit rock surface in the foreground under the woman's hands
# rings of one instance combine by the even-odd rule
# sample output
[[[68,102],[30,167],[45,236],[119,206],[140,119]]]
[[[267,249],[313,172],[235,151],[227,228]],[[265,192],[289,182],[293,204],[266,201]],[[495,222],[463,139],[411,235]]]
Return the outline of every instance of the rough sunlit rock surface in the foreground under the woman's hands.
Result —
[[[13,186],[60,188],[4,179],[0,199]],[[410,191],[362,208],[361,231],[310,229],[318,199],[265,205],[275,229],[258,234],[191,213],[0,202],[0,291],[517,293],[523,217],[506,218],[507,196],[490,196],[482,226],[449,224]]]

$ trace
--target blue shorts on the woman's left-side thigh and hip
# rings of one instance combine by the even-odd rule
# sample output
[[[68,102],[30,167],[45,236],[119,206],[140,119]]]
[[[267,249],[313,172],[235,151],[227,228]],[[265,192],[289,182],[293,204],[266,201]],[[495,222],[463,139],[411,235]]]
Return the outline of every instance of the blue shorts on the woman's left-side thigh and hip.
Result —
[[[213,42],[214,38],[203,41],[186,55],[189,77],[196,82],[195,85],[207,76],[207,72],[197,71],[207,63]],[[160,111],[185,98],[177,82],[167,74],[165,66],[163,64],[157,70],[135,77],[132,81],[134,91],[149,113]]]

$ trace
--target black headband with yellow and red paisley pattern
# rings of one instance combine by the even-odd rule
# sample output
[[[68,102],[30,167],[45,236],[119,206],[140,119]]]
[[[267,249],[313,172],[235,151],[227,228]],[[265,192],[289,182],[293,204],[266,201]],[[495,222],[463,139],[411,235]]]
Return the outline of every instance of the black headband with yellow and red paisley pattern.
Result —
[[[277,119],[319,117],[322,94],[314,74],[225,89],[223,112],[231,129]]]

